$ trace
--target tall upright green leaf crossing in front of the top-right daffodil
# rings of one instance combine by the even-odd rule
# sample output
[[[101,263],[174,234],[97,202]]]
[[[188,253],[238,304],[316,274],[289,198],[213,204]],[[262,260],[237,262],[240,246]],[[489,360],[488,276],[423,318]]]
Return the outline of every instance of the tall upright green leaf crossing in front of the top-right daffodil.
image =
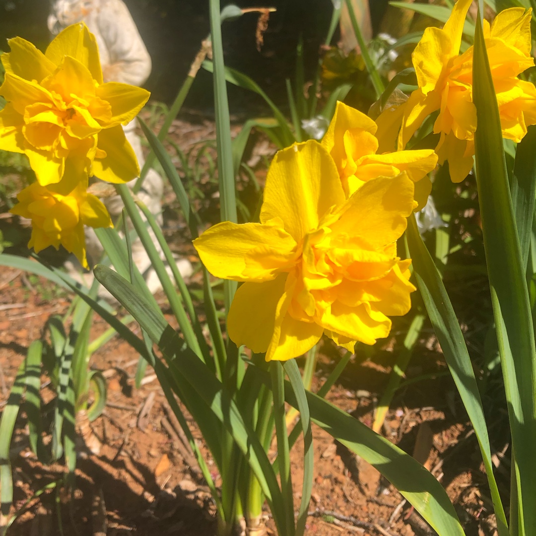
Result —
[[[510,416],[519,533],[532,536],[536,534],[536,351],[504,159],[501,121],[482,31],[482,2],[479,4],[473,59],[473,99],[478,121],[475,132],[478,197]]]

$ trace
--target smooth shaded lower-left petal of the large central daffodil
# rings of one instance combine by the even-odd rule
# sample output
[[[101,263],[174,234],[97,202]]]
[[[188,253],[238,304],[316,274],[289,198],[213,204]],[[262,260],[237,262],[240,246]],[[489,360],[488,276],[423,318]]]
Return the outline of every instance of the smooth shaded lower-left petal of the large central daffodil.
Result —
[[[286,280],[284,273],[271,281],[245,282],[237,289],[227,315],[229,338],[237,346],[245,345],[255,353],[266,352]]]

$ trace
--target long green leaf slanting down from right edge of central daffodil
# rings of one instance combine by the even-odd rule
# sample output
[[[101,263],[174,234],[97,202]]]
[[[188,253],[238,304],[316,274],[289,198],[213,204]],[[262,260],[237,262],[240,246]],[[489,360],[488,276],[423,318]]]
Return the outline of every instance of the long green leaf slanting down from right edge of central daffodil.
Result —
[[[443,286],[441,275],[426,245],[422,242],[414,215],[408,220],[406,233],[414,268],[413,273],[419,285],[422,300],[425,302],[430,322],[434,327],[446,363],[449,366],[478,439],[484,466],[486,467],[489,488],[492,493],[498,533],[500,536],[508,536],[506,516],[504,515],[501,497],[497,489],[497,482],[493,475],[486,419],[463,333],[461,333],[449,295]]]

